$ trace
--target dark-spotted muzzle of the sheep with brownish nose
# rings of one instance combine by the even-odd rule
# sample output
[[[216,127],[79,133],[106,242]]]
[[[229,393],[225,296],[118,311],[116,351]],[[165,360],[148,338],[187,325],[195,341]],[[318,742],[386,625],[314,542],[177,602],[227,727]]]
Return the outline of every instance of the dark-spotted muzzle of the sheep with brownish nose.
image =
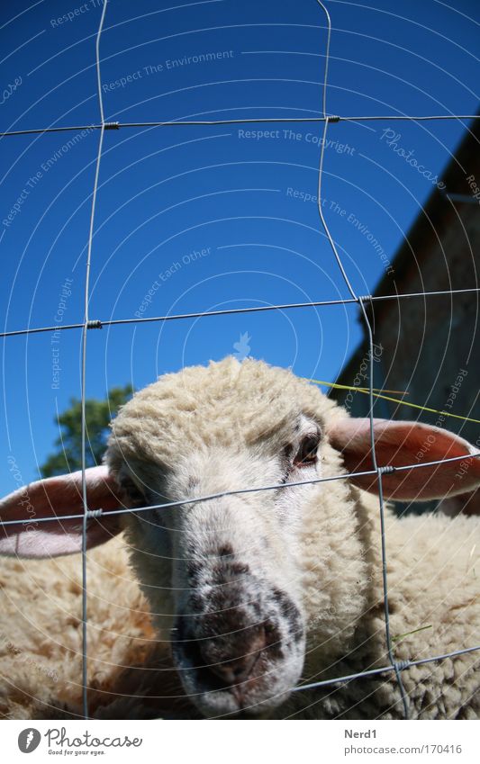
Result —
[[[267,714],[303,668],[299,607],[239,562],[191,566],[189,578],[172,641],[186,693],[206,716]]]

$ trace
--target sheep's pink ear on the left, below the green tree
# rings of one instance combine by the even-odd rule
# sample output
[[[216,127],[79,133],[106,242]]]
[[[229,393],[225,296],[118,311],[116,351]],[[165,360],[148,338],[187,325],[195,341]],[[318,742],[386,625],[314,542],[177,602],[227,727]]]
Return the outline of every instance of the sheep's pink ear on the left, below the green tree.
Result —
[[[117,490],[118,493],[118,490]],[[86,498],[89,509],[119,508],[115,485],[106,467],[86,470]],[[19,557],[58,557],[82,549],[83,518],[56,519],[62,515],[82,515],[82,472],[72,472],[24,486],[0,499],[0,521],[23,520],[22,524],[0,525],[0,554]],[[51,517],[48,522],[36,522]],[[53,519],[55,518],[55,519]],[[87,547],[108,541],[120,530],[119,516],[108,514],[89,519]]]

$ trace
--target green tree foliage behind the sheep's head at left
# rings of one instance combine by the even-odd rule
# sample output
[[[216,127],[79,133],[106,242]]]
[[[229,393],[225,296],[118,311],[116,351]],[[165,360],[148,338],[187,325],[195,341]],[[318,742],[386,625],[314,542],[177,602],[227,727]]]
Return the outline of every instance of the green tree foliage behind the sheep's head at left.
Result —
[[[114,387],[108,392],[105,400],[95,398],[86,400],[86,466],[93,467],[102,462],[106,440],[109,433],[108,424],[118,409],[126,403],[133,388],[130,384],[125,387]],[[68,409],[56,418],[60,435],[55,441],[56,451],[47,457],[41,465],[42,478],[74,472],[82,466],[82,404],[77,398],[70,400]]]

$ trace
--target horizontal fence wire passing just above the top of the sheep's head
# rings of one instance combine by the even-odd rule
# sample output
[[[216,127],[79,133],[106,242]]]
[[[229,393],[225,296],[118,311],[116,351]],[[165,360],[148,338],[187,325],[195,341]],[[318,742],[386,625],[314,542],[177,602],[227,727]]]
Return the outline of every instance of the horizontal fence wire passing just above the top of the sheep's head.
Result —
[[[176,321],[181,319],[206,319],[209,316],[234,316],[239,313],[265,313],[268,310],[294,310],[298,308],[322,308],[329,305],[352,305],[359,303],[361,300],[381,302],[385,300],[403,300],[410,299],[412,297],[438,297],[439,295],[445,296],[455,294],[467,294],[480,292],[480,287],[469,287],[468,289],[452,289],[442,290],[440,292],[411,292],[408,294],[402,294],[397,292],[396,294],[381,294],[374,295],[368,294],[365,297],[338,299],[338,300],[320,300],[309,302],[285,302],[280,305],[260,305],[253,308],[228,308],[226,310],[200,310],[195,313],[173,313],[167,316],[149,316],[148,318],[131,318],[131,319],[95,319],[88,321],[87,329],[101,329],[103,327],[114,327],[122,324],[148,324],[155,323],[156,321]],[[12,331],[0,332],[1,337],[18,337],[25,334],[40,334],[41,332],[48,331],[65,331],[66,329],[80,329],[84,328],[84,323],[78,324],[61,324],[56,327],[32,327],[24,329],[13,329]]]

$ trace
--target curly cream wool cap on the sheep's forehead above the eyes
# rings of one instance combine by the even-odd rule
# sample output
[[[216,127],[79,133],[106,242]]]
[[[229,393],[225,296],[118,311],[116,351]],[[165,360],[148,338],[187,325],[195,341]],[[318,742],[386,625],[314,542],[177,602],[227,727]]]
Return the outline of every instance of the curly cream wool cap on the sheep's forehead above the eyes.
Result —
[[[136,393],[113,420],[108,461],[147,459],[174,466],[193,448],[240,448],[294,432],[300,414],[321,424],[345,416],[309,382],[262,361],[229,356],[165,374]]]

